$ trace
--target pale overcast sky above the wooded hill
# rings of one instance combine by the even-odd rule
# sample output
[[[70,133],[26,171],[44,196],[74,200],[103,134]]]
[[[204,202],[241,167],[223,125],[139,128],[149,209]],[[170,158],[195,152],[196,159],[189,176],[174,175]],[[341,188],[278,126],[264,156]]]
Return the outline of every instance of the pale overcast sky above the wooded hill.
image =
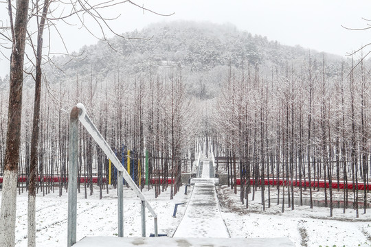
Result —
[[[93,0],[98,1],[98,0]],[[350,31],[346,27],[366,27],[361,18],[371,19],[371,1],[357,0],[133,0],[156,12],[172,16],[157,16],[125,3],[118,5],[106,16],[121,13],[110,25],[117,33],[141,30],[149,23],[173,20],[210,21],[232,23],[238,30],[267,36],[285,45],[346,55],[361,45],[371,42],[371,30]],[[91,2],[91,1],[89,1]],[[0,20],[6,23],[5,5],[0,5]],[[73,22],[73,21],[71,21]],[[97,40],[87,31],[76,26],[58,23],[69,51],[77,51],[83,45]],[[92,25],[93,26],[93,25]],[[54,32],[55,33],[55,32]],[[95,34],[101,36],[98,30]],[[112,36],[110,34],[109,36]],[[52,37],[54,51],[63,52],[60,38]],[[3,51],[3,47],[0,47]],[[0,58],[0,77],[8,74],[9,64]]]

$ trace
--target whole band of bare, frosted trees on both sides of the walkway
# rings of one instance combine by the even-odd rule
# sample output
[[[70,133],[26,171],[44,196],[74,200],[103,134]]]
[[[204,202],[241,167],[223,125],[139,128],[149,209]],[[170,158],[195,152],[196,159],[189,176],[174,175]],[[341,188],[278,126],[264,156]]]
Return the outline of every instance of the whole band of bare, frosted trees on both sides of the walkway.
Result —
[[[74,62],[83,64],[79,59]],[[68,189],[68,116],[71,107],[81,102],[135,183],[142,189],[153,189],[156,197],[166,189],[170,189],[170,198],[179,191],[181,173],[191,172],[195,154],[205,145],[203,152],[225,157],[227,165],[218,172],[228,175],[234,193],[240,179],[240,199],[245,207],[249,207],[249,193],[254,198],[258,189],[262,191],[262,209],[270,207],[270,190],[276,189],[282,211],[285,205],[294,209],[297,181],[300,200],[303,191],[309,191],[311,207],[312,194],[319,190],[315,183],[330,185],[321,189],[330,215],[333,190],[340,191],[339,183],[347,188],[342,190],[344,212],[353,201],[358,217],[358,202],[367,205],[371,156],[370,66],[366,61],[355,67],[359,60],[339,62],[325,54],[308,53],[275,66],[250,59],[210,71],[164,61],[152,67],[151,62],[133,65],[137,66],[134,74],[112,68],[105,78],[95,71],[100,64],[97,61],[85,64],[82,73],[77,70],[68,80],[51,71],[45,74],[36,193],[61,195]],[[54,69],[57,75],[65,73]],[[4,82],[0,88],[1,126],[7,126],[8,121],[9,87]],[[34,88],[26,86],[19,193],[30,189],[33,102]],[[0,176],[6,131],[0,129]],[[115,169],[110,172],[109,161],[85,130],[79,147],[78,190],[85,197],[91,195],[96,178],[102,198],[109,186],[116,185]],[[261,183],[266,179],[284,183]],[[359,184],[367,186],[360,191]],[[352,189],[348,185],[353,185]]]

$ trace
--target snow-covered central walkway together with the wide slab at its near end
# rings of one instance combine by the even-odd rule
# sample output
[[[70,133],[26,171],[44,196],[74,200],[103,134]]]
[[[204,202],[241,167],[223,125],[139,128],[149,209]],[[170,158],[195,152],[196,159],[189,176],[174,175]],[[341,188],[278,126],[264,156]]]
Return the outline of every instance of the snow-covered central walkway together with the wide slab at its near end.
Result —
[[[201,165],[201,164],[200,164]],[[210,167],[210,160],[203,158],[202,174],[193,178],[192,196],[188,202],[186,213],[172,237],[85,237],[74,247],[100,246],[181,246],[181,247],[294,247],[286,237],[277,238],[229,238],[225,222],[221,217],[218,198],[216,197],[214,168]]]

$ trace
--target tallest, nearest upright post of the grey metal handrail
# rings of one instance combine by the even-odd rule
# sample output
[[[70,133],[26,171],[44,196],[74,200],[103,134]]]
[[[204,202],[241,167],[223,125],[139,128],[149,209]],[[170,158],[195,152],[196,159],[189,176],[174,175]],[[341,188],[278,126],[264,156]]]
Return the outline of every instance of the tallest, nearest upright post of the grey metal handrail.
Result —
[[[78,174],[78,115],[74,106],[69,116],[68,218],[67,246],[76,244],[77,174]]]

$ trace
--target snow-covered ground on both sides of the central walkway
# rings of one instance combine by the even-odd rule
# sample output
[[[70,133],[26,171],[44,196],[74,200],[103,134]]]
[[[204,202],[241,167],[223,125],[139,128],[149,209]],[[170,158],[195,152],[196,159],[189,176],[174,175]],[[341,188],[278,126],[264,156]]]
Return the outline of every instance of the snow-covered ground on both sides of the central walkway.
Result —
[[[192,188],[189,191],[192,191]],[[296,246],[371,246],[371,209],[370,213],[360,211],[359,219],[355,211],[334,209],[334,217],[329,217],[329,209],[308,206],[296,206],[295,210],[282,205],[272,204],[271,208],[262,211],[260,192],[256,200],[249,201],[249,209],[240,204],[239,191],[235,195],[226,186],[217,187],[221,202],[221,215],[225,220],[231,237],[289,237]],[[159,215],[159,233],[172,236],[177,228],[186,204],[180,205],[177,218],[172,217],[175,203],[186,202],[188,196],[183,194],[184,187],[169,200],[170,189],[155,199],[154,191],[144,190],[150,204]],[[276,191],[271,190],[272,198]],[[321,197],[323,192],[316,193]],[[340,191],[341,193],[341,191]],[[104,192],[99,200],[98,188],[93,196],[84,199],[78,194],[78,233],[77,239],[84,236],[115,236],[117,235],[117,197],[115,189],[109,194]],[[1,197],[1,193],[0,193]],[[339,195],[341,197],[341,195]],[[250,198],[251,199],[251,198]],[[27,193],[17,197],[16,246],[27,246]],[[124,188],[124,236],[140,237],[140,204],[131,189]],[[67,193],[59,197],[51,193],[36,200],[36,244],[37,246],[67,246]],[[153,233],[153,217],[146,212],[147,236]]]

